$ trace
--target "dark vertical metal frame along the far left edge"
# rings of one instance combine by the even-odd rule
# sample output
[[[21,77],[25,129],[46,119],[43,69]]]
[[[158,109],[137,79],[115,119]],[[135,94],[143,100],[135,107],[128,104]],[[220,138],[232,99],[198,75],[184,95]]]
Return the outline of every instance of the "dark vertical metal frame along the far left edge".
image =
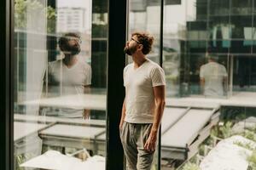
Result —
[[[0,122],[0,133],[2,134],[0,138],[0,169],[11,170],[13,169],[13,88],[12,88],[12,35],[13,35],[13,1],[3,0],[0,1],[1,8],[1,26],[0,26],[0,48],[1,48],[1,58],[0,58],[0,101],[1,101],[1,122]]]

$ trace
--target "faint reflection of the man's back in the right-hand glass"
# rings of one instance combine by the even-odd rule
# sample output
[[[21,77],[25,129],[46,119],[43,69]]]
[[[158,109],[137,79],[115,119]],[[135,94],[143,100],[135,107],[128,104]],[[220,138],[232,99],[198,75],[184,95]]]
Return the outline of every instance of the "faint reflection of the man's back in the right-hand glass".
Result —
[[[228,74],[217,60],[217,55],[208,54],[208,63],[200,68],[201,90],[208,97],[221,97],[226,93]]]

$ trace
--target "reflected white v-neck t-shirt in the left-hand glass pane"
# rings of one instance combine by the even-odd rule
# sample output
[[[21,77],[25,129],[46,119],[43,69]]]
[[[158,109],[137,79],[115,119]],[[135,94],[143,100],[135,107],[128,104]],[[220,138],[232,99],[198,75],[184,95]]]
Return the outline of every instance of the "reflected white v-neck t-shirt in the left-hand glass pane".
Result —
[[[84,86],[91,84],[90,65],[80,58],[71,68],[68,68],[62,59],[50,62],[48,75],[48,97],[84,94]],[[83,112],[83,108],[73,108],[67,105],[67,108],[59,108],[55,114],[57,116],[81,117]]]

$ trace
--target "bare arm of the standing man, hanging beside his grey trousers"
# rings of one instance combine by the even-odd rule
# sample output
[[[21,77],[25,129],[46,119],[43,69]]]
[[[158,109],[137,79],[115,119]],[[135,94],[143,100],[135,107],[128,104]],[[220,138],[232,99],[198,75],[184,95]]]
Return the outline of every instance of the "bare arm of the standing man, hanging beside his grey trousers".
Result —
[[[155,99],[154,122],[151,128],[149,137],[144,145],[144,149],[148,151],[155,150],[157,133],[158,133],[160,122],[166,106],[166,86],[154,87],[154,99]]]

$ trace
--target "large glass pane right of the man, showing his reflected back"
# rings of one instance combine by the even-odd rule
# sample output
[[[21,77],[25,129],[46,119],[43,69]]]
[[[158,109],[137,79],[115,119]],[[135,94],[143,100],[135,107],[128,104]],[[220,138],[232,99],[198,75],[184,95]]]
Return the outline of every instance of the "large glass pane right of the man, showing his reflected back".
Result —
[[[255,144],[255,105],[244,107],[255,95],[254,3],[165,1],[162,169],[255,168],[253,154],[237,158],[255,152],[245,149]]]

